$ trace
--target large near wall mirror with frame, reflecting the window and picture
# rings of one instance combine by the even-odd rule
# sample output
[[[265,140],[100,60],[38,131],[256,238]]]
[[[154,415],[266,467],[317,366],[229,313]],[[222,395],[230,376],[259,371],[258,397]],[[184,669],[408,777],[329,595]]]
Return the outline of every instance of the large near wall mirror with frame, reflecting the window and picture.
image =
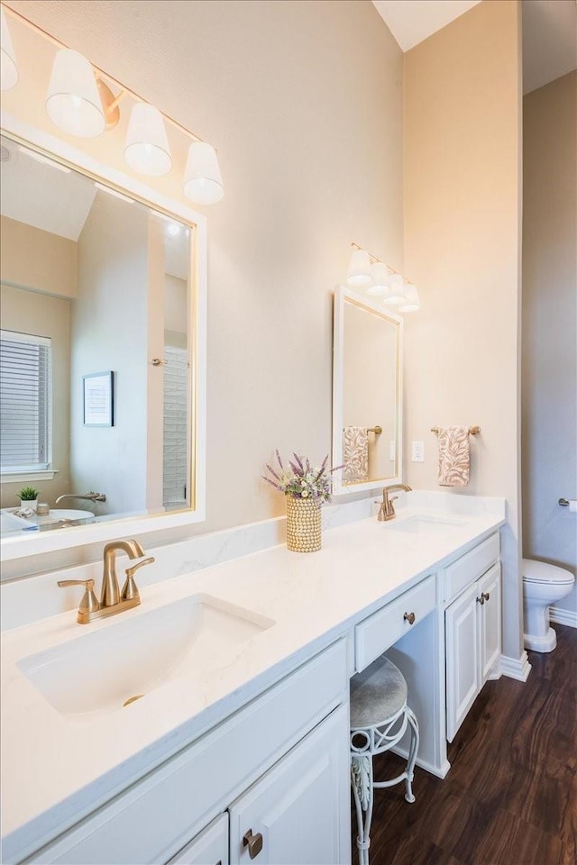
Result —
[[[32,137],[0,142],[4,559],[205,514],[204,218]]]

